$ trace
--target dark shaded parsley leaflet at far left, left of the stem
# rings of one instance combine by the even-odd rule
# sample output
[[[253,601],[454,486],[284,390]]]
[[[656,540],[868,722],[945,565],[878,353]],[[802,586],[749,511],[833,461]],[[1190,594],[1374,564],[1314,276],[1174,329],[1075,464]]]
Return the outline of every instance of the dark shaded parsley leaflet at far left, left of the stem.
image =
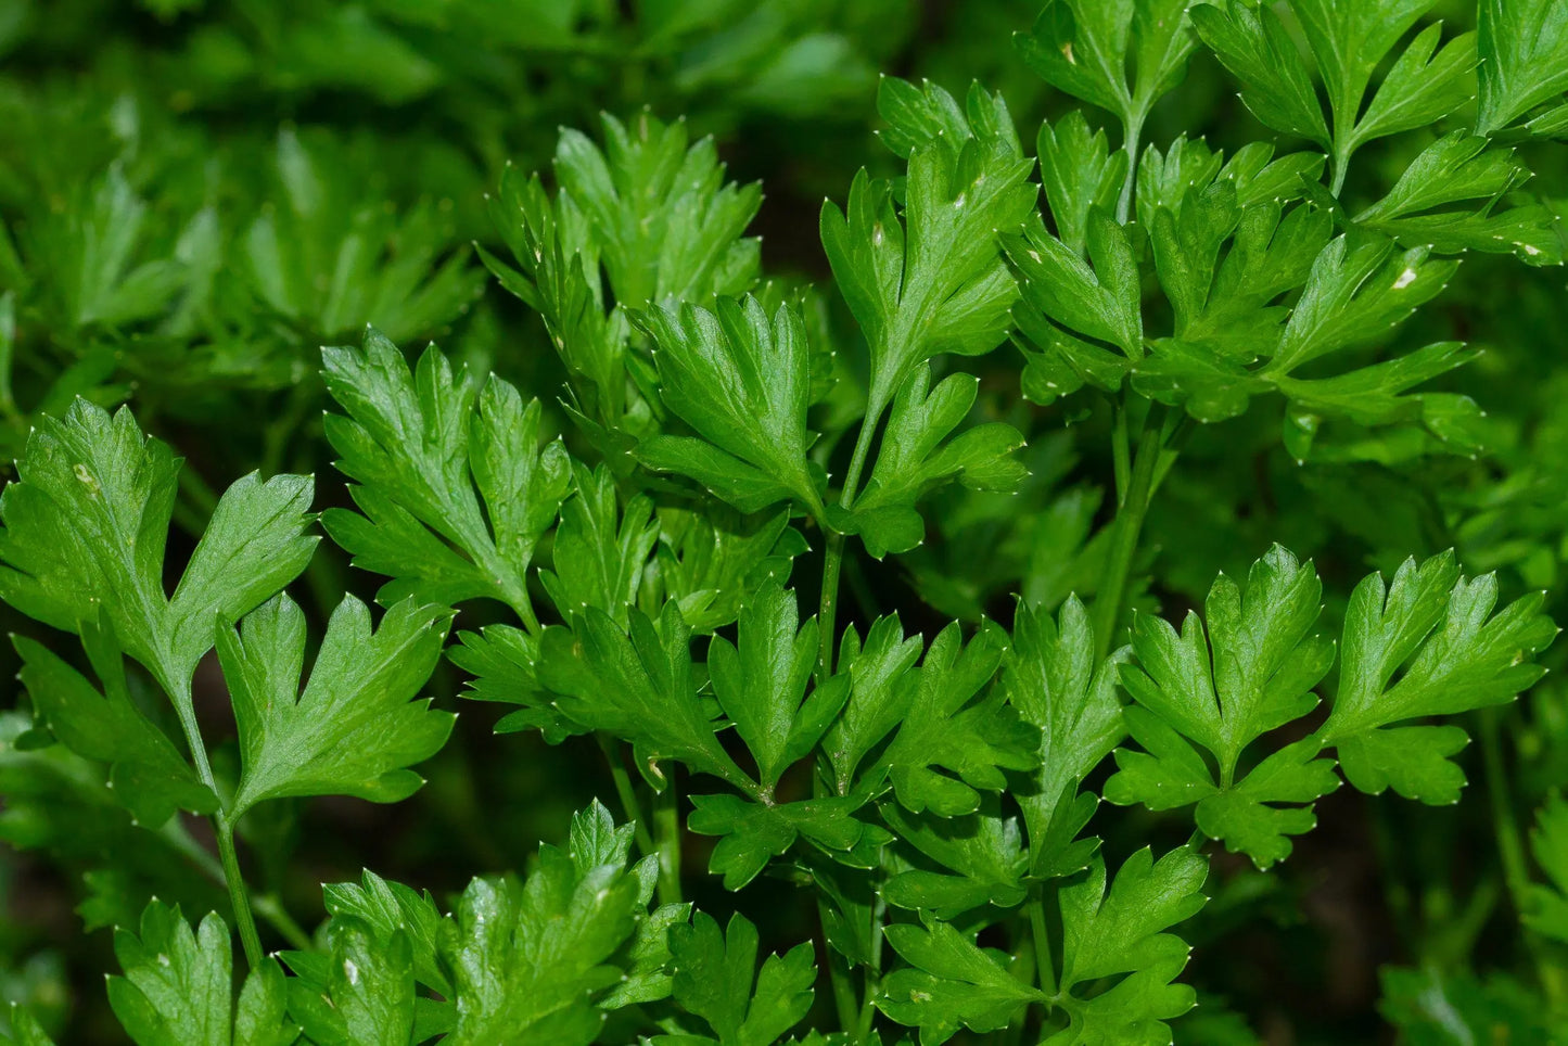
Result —
[[[107,623],[83,626],[82,635],[102,692],[41,643],[11,637],[22,657],[17,679],[50,732],[78,756],[111,764],[114,797],[138,823],[158,828],[176,809],[215,812],[218,797],[132,701],[124,659]]]

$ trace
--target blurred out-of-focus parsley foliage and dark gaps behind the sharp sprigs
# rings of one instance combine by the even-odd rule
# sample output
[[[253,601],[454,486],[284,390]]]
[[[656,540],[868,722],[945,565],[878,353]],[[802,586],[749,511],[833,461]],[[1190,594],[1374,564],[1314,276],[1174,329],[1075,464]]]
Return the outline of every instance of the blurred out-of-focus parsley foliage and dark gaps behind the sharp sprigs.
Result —
[[[762,182],[753,229],[764,270],[822,282],[820,199],[842,199],[864,165],[892,168],[872,133],[881,72],[930,77],[955,93],[978,78],[1005,94],[1030,138],[1040,119],[1076,107],[1010,44],[1038,6],[0,0],[0,459],[14,458],[38,412],[85,395],[132,401],[144,428],[187,455],[177,513],[187,530],[199,532],[215,489],[252,469],[314,472],[320,507],[343,503],[320,428],[320,345],[358,342],[375,323],[405,347],[436,339],[546,403],[561,386],[538,317],[494,287],[474,254],[475,242],[500,249],[485,196],[505,165],[547,169],[558,129],[597,136],[601,111],[684,118],[693,138],[717,138],[732,179]],[[1457,31],[1472,5],[1439,3],[1436,14]],[[1165,147],[1179,132],[1226,151],[1273,138],[1201,50],[1146,133]],[[1424,144],[1403,136],[1367,147],[1350,198],[1378,196]],[[1562,213],[1568,152],[1521,149],[1535,171],[1530,188]],[[1479,456],[1432,455],[1400,430],[1341,436],[1325,427],[1281,447],[1292,419],[1278,405],[1200,428],[1151,511],[1154,550],[1140,566],[1162,582],[1140,593],[1140,605],[1178,615],[1201,601],[1215,571],[1245,571],[1273,541],[1317,558],[1331,615],[1366,569],[1450,546],[1471,571],[1497,571],[1505,599],[1560,593],[1563,290],[1559,268],[1469,257],[1435,307],[1399,332],[1406,348],[1463,339],[1485,350],[1443,386],[1486,411]],[[822,296],[829,343],[850,329],[837,309],[836,295]],[[928,615],[906,613],[906,623],[930,634],[952,616],[1007,619],[1013,593],[1054,607],[1093,583],[1110,419],[1087,398],[1025,405],[1021,362],[1004,348],[980,365],[988,409],[1030,436],[1025,489],[953,488],[919,552],[851,565],[855,618],[919,596]],[[318,618],[345,587],[368,596],[376,585],[329,547],[307,582]],[[1559,619],[1560,604],[1559,594]],[[1563,660],[1568,645],[1559,643],[1548,663],[1560,670]],[[9,677],[14,665],[3,668]],[[1563,674],[1482,723],[1485,740],[1466,756],[1471,801],[1457,811],[1347,789],[1323,800],[1322,828],[1281,872],[1218,856],[1218,894],[1192,932],[1189,977],[1204,1005],[1178,1026],[1181,1040],[1386,1041],[1381,1010],[1411,1043],[1483,1041],[1460,1026],[1544,1041],[1540,999],[1512,979],[1526,957],[1491,855],[1499,811],[1529,823],[1568,779]],[[430,690],[453,704],[458,684],[444,666]],[[204,712],[216,737],[227,703],[213,696]],[[564,833],[569,811],[607,792],[586,743],[495,739],[492,718],[470,707],[408,803],[279,803],[274,815],[249,819],[252,834],[285,841],[278,850],[292,853],[287,873],[262,870],[262,903],[310,927],[321,914],[317,884],[356,878],[361,866],[453,891],[474,873],[521,867],[539,839]],[[114,1041],[97,975],[111,966],[103,927],[151,894],[205,911],[223,908],[223,891],[207,841],[179,820],[160,833],[135,828],[105,798],[99,767],[58,746],[31,750],[27,728],[25,712],[0,718],[0,839],[9,844],[0,853],[0,985],[61,1041]],[[1483,795],[1486,757],[1508,767],[1510,794]],[[96,828],[82,831],[88,823]],[[1110,822],[1107,848],[1184,837],[1179,823],[1129,812]],[[721,921],[732,910],[717,881],[693,886]],[[773,919],[765,935],[793,938],[814,913],[786,883],[776,891],[776,906],[750,911]],[[1226,999],[1251,1008],[1234,1013]]]

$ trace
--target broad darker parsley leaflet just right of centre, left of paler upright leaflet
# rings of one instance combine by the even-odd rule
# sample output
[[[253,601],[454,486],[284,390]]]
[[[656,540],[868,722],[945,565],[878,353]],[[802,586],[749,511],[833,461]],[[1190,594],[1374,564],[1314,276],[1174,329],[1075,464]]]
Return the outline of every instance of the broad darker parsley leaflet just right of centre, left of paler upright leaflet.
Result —
[[[988,621],[967,645],[961,634],[956,621],[942,629],[906,676],[914,698],[881,756],[898,803],[914,814],[972,814],[982,792],[1007,789],[1005,770],[1036,765],[1036,732],[991,684],[1007,632]]]

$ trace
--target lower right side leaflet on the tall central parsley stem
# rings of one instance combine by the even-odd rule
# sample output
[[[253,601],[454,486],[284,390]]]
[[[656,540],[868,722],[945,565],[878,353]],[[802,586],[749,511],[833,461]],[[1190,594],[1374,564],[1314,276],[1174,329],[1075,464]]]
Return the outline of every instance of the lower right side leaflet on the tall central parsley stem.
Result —
[[[908,552],[925,539],[916,505],[933,489],[960,481],[971,489],[1011,491],[1027,475],[1010,455],[1024,445],[1016,428],[988,422],[953,436],[974,408],[980,381],[956,373],[930,387],[920,364],[898,389],[870,480],[853,511],[828,510],[834,527],[858,533],[867,552]]]

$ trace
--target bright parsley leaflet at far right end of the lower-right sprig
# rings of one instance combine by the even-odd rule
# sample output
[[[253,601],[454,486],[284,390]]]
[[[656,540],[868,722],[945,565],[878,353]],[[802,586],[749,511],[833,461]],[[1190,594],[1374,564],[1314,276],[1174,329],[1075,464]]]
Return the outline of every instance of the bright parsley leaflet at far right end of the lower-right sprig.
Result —
[[[1406,560],[1391,585],[1381,574],[1356,585],[1339,688],[1319,731],[1338,746],[1345,779],[1374,795],[1392,787],[1424,803],[1457,803],[1465,775],[1449,756],[1463,746],[1463,731],[1383,728],[1502,704],[1529,688],[1546,671],[1534,657],[1557,635],[1543,602],[1534,593],[1493,615],[1497,579],[1463,577],[1452,552]]]

